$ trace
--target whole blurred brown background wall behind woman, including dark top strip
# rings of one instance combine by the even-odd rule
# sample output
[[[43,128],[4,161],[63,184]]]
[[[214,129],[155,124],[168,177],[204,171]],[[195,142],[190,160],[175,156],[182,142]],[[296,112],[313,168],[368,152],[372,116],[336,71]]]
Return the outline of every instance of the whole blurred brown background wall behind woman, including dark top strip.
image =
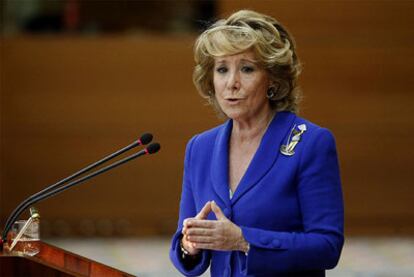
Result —
[[[337,140],[348,235],[413,235],[413,1],[2,1],[0,223],[152,132],[161,151],[37,205],[43,236],[171,235],[185,144],[220,123],[192,45],[248,8],[296,38],[300,115]]]

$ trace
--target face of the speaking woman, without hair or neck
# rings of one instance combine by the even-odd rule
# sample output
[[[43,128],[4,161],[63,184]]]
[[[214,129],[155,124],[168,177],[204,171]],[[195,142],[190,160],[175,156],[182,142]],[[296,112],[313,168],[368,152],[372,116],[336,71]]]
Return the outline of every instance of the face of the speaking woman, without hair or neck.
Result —
[[[214,59],[214,90],[222,111],[236,121],[271,112],[266,98],[270,81],[252,50]]]

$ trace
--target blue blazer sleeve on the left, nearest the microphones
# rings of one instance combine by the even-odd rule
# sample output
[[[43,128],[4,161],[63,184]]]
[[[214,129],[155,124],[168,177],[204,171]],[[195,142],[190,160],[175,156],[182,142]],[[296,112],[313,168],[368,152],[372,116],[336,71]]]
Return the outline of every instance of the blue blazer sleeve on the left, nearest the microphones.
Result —
[[[191,152],[196,136],[193,137],[187,144],[184,159],[184,177],[180,201],[180,213],[178,218],[178,228],[175,232],[170,249],[170,259],[174,266],[185,276],[199,276],[203,274],[210,265],[211,252],[208,250],[201,251],[201,259],[196,265],[191,268],[186,266],[181,258],[180,240],[182,238],[183,221],[188,217],[194,217],[197,214],[197,209],[194,203],[193,192],[191,187]]]

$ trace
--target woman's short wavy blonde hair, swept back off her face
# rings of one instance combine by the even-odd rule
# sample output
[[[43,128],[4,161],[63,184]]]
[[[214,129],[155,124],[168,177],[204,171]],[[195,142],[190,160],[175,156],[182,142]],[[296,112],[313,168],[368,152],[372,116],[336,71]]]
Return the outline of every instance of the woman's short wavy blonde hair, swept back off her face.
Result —
[[[253,49],[275,84],[275,95],[269,99],[272,109],[297,112],[301,65],[293,37],[274,18],[250,10],[241,10],[217,21],[197,38],[193,82],[201,96],[223,115],[214,94],[214,58],[249,49]]]

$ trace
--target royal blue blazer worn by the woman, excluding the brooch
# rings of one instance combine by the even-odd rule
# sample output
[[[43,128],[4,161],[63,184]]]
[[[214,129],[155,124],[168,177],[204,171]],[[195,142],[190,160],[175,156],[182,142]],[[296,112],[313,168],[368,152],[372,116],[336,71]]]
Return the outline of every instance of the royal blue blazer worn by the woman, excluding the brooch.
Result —
[[[280,152],[294,126],[306,132],[286,156]],[[270,123],[233,197],[229,195],[232,121],[188,143],[177,232],[170,258],[186,276],[325,276],[338,263],[344,243],[344,208],[332,134],[290,112]],[[202,250],[192,268],[181,258],[183,220],[214,200],[250,244],[240,251]],[[216,219],[210,213],[208,219]]]

